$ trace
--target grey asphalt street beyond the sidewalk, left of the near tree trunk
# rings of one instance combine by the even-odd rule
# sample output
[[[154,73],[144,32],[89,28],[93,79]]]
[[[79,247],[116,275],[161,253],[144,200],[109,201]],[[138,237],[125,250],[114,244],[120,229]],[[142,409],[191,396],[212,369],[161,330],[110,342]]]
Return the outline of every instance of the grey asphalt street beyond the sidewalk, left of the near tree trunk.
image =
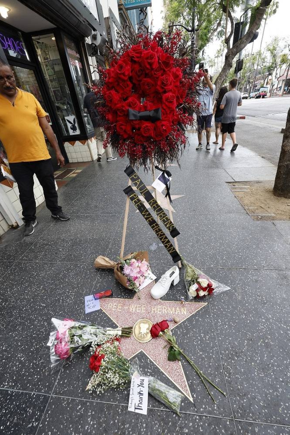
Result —
[[[290,97],[243,100],[237,120],[237,142],[277,165],[280,156]]]

